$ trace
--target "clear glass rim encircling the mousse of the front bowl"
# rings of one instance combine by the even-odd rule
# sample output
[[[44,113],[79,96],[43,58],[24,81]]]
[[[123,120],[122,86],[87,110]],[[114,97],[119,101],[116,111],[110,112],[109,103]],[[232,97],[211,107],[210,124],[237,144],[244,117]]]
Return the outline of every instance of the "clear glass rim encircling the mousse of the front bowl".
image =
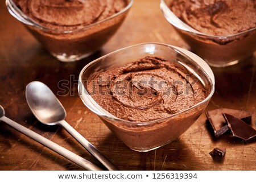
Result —
[[[87,90],[85,89],[84,84],[82,84],[82,75],[84,74],[85,70],[86,70],[88,67],[90,67],[90,65],[92,65],[92,64],[94,64],[94,63],[96,63],[96,62],[98,62],[98,61],[100,61],[100,60],[102,60],[102,59],[104,59],[105,57],[108,57],[108,56],[110,56],[110,55],[113,55],[114,53],[121,52],[121,51],[126,51],[126,49],[130,49],[130,48],[140,47],[140,46],[145,46],[145,45],[150,45],[150,44],[154,44],[154,45],[158,45],[158,46],[163,46],[163,47],[171,48],[173,51],[175,51],[175,52],[177,52],[177,53],[183,55],[183,56],[186,57],[188,60],[191,60],[191,61],[192,61],[193,63],[195,63],[198,67],[200,67],[200,68],[202,69],[202,71],[204,72],[204,74],[205,74],[206,76],[208,76],[208,78],[209,78],[209,80],[210,80],[211,90],[210,90],[208,96],[207,96],[203,101],[197,103],[196,105],[193,105],[192,107],[189,107],[188,109],[181,110],[180,112],[175,113],[175,114],[172,114],[172,115],[170,115],[170,116],[168,116],[168,117],[165,117],[165,118],[155,119],[155,120],[148,121],[148,122],[126,121],[125,119],[121,119],[121,118],[117,118],[117,117],[113,118],[113,117],[109,117],[108,115],[105,115],[105,114],[99,114],[99,113],[96,113],[93,109],[91,109],[91,107],[92,107],[91,105],[88,105],[88,104],[86,104],[86,103],[84,102],[84,100],[85,100],[84,94],[86,94],[85,92],[87,92]],[[179,47],[176,47],[176,46],[171,46],[171,45],[164,44],[164,43],[155,43],[155,42],[152,42],[152,43],[141,43],[141,44],[135,44],[134,46],[129,46],[129,47],[117,49],[116,51],[110,52],[110,53],[108,53],[108,54],[106,54],[106,55],[104,55],[104,56],[99,57],[99,58],[96,59],[96,60],[93,60],[92,62],[86,64],[85,67],[81,69],[80,74],[79,74],[78,92],[79,92],[79,96],[80,96],[82,102],[84,103],[84,105],[85,105],[86,107],[88,107],[89,110],[93,111],[93,113],[99,115],[100,117],[104,117],[104,118],[109,119],[109,120],[111,120],[111,121],[113,121],[113,122],[123,122],[123,123],[126,123],[126,124],[127,124],[127,123],[130,123],[130,124],[132,124],[132,125],[137,125],[137,126],[144,126],[144,125],[150,125],[150,124],[156,123],[156,122],[162,122],[162,121],[165,121],[165,120],[168,119],[168,118],[175,117],[176,115],[185,113],[185,112],[188,111],[188,110],[194,109],[194,108],[197,107],[197,106],[200,106],[200,105],[205,104],[205,102],[208,102],[208,101],[210,100],[210,98],[213,96],[213,93],[214,93],[214,90],[215,90],[215,78],[214,78],[212,69],[210,69],[210,71],[212,72],[212,73],[211,73],[211,74],[212,74],[212,77],[211,77],[207,72],[205,72],[205,69],[204,69],[204,68],[202,68],[198,63],[196,63],[196,61],[194,61],[191,57],[189,57],[189,56],[186,55],[185,53],[181,52],[179,49],[181,49],[181,50],[183,50],[183,51],[187,51],[187,50],[185,50],[185,49],[182,49],[182,48],[179,48]],[[188,51],[188,52],[189,52],[189,51]],[[190,52],[190,53],[192,53],[192,52]],[[192,54],[195,55],[194,53],[192,53]],[[209,65],[208,65],[203,59],[201,59],[201,57],[199,57],[199,56],[197,56],[197,55],[195,55],[195,56],[196,56],[198,59],[200,59],[201,61],[203,61],[203,63],[205,63],[205,65],[206,65],[208,68],[210,68]],[[82,87],[82,90],[85,90],[85,92],[84,92],[84,91],[81,91],[80,86]],[[87,92],[87,94],[88,94],[88,96],[90,96],[90,94],[89,94],[88,92]],[[92,100],[93,100],[93,98],[92,98]],[[93,100],[93,101],[94,101],[94,100]],[[94,102],[96,102],[96,101],[94,101]],[[96,103],[97,103],[97,102],[96,102]],[[100,107],[101,107],[101,106],[100,106]],[[102,108],[102,107],[101,107],[101,108]],[[103,108],[102,108],[102,109],[103,109]],[[104,109],[104,110],[105,110],[105,109]],[[106,111],[106,112],[109,113],[108,111]],[[112,115],[112,114],[110,114],[110,115]]]

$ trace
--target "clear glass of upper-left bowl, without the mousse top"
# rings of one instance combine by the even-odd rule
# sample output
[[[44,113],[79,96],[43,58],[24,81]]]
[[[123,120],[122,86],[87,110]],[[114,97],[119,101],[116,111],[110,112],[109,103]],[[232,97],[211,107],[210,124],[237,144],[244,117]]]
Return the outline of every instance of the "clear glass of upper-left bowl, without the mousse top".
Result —
[[[52,30],[28,18],[12,0],[6,0],[9,13],[22,22],[32,35],[60,61],[76,61],[92,55],[114,35],[133,4],[104,20],[75,30]]]

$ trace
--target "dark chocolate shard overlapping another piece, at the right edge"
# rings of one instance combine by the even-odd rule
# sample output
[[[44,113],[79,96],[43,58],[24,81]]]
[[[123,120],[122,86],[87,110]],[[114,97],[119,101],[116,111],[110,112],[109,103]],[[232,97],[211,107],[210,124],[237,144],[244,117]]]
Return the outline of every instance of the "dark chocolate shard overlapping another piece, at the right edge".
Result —
[[[223,115],[234,137],[238,137],[243,140],[249,140],[256,137],[256,130],[254,130],[253,127],[247,125],[241,119],[236,118],[233,115],[226,113]]]

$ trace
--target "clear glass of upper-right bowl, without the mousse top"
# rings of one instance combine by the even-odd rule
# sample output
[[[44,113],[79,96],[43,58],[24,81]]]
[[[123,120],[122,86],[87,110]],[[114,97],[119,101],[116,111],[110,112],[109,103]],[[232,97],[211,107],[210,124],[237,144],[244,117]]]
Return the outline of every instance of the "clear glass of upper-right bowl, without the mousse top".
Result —
[[[191,47],[192,51],[213,67],[226,67],[253,55],[256,50],[256,28],[227,36],[203,34],[185,24],[172,13],[168,5],[173,0],[161,0],[160,9]]]

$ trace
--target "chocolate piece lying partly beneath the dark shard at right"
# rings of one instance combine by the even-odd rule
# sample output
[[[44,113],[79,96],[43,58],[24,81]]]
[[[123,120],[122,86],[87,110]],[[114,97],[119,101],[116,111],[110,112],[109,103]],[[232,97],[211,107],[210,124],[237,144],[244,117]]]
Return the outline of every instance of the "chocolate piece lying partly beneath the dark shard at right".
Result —
[[[227,113],[234,115],[237,118],[242,119],[246,123],[250,123],[251,121],[251,113],[242,110],[234,110],[234,109],[227,109],[227,108],[220,108],[207,111],[207,117],[210,121],[210,125],[214,130],[215,137],[220,137],[220,135],[224,134],[226,131],[229,130],[228,125],[222,115],[222,113]]]

